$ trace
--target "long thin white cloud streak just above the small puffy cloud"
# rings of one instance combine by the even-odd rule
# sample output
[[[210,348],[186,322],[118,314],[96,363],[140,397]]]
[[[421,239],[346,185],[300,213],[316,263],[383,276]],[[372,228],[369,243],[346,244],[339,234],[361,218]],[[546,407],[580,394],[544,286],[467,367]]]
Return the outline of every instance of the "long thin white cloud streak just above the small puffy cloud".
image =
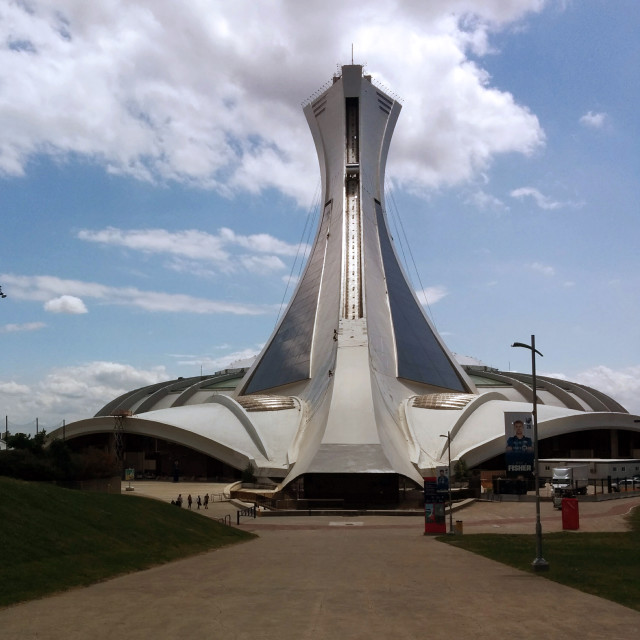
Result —
[[[126,305],[154,312],[261,315],[274,311],[268,305],[207,300],[184,294],[143,291],[136,287],[109,287],[96,282],[64,280],[55,276],[18,276],[4,273],[1,277],[4,282],[15,285],[14,298],[22,300],[45,302],[52,296],[75,295],[96,299],[104,305]]]

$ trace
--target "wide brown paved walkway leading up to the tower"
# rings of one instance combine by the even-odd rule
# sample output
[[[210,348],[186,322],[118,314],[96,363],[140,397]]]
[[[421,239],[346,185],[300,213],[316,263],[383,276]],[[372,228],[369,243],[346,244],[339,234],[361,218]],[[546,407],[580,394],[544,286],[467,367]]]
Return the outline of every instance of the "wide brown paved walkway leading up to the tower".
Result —
[[[584,521],[624,522],[611,510],[638,502],[599,503],[605,515],[585,514]],[[521,507],[534,510],[531,503],[474,505],[464,515],[465,531],[530,525]],[[543,519],[543,530],[550,524]],[[640,613],[425,537],[420,518],[258,518],[242,527],[259,539],[0,610],[0,637],[640,636]]]

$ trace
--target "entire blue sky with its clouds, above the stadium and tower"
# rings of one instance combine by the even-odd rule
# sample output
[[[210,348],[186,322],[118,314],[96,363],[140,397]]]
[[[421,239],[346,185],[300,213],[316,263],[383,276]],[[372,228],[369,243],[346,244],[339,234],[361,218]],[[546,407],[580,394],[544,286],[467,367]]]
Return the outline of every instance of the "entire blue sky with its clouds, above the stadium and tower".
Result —
[[[316,213],[300,105],[352,43],[402,97],[387,209],[450,349],[528,371],[535,334],[640,412],[637,2],[0,0],[0,32],[10,430],[260,350]]]

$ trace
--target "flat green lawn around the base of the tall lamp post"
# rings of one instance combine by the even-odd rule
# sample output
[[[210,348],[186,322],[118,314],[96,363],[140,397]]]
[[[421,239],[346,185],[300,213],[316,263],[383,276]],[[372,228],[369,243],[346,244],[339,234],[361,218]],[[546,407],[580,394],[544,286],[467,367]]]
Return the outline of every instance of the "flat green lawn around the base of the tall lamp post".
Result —
[[[549,571],[539,575],[640,611],[640,509],[628,518],[631,530],[625,533],[543,534],[542,556]],[[438,540],[533,572],[535,535],[474,534]]]

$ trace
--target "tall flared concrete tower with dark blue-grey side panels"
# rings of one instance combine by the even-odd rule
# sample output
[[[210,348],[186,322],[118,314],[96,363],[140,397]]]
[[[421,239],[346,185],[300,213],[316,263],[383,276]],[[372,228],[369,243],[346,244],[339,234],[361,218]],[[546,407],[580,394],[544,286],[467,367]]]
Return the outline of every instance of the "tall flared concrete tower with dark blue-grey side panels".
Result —
[[[287,311],[237,391],[303,401],[285,482],[304,474],[305,490],[322,486],[325,497],[345,474],[366,476],[351,478],[354,492],[397,474],[420,481],[402,401],[476,393],[426,317],[387,227],[384,171],[400,109],[353,64],[305,106],[322,217]]]

